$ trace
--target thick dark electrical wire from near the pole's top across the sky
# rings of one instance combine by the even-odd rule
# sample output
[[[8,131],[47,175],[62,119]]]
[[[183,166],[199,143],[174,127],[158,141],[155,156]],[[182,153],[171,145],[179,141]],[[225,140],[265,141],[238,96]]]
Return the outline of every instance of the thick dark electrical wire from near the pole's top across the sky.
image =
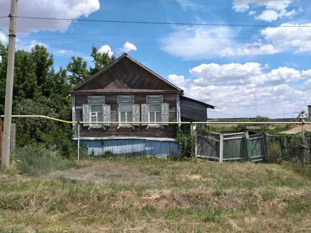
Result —
[[[165,23],[165,22],[143,22],[143,21],[115,21],[115,20],[89,20],[89,19],[63,19],[63,18],[41,18],[12,16],[23,19],[44,19],[44,20],[68,20],[86,22],[106,22],[106,23],[138,23],[138,24],[159,24],[159,25],[202,25],[202,26],[246,26],[246,27],[311,27],[311,25],[244,25],[244,24],[199,24],[199,23]]]

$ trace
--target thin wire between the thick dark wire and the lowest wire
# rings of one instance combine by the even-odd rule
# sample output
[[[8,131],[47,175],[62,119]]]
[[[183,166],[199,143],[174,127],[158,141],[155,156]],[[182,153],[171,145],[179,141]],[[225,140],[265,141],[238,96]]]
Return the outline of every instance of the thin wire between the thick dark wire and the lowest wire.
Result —
[[[8,32],[1,32],[8,33]],[[263,40],[311,40],[310,39],[276,39],[276,38],[252,38],[252,37],[213,37],[213,36],[164,36],[164,35],[126,35],[126,34],[97,34],[97,33],[63,33],[63,32],[23,32],[17,33],[40,33],[40,34],[62,34],[62,35],[102,35],[102,36],[141,36],[141,37],[165,37],[165,38],[214,38],[214,39],[263,39]]]

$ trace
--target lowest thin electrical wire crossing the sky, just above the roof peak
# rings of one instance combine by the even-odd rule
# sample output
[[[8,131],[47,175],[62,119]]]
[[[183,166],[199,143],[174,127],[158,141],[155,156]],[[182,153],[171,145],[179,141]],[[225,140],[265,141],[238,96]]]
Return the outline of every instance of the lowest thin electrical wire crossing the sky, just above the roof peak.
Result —
[[[65,39],[41,39],[41,38],[19,38],[24,40],[51,40],[51,41],[72,41],[72,42],[100,42],[100,43],[119,43],[124,42],[116,41],[96,41],[96,40],[65,40]],[[0,39],[4,40],[4,39]],[[251,47],[251,48],[311,48],[311,47],[295,47],[295,46],[266,46],[266,45],[224,45],[224,44],[171,44],[171,43],[143,43],[143,42],[132,42],[133,44],[149,44],[149,45],[184,45],[184,46],[223,46],[223,47]]]

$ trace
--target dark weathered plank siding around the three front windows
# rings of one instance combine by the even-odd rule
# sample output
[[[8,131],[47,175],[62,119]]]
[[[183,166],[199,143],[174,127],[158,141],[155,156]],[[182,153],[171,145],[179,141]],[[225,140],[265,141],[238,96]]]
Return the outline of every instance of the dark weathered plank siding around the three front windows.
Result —
[[[152,93],[148,95],[156,95]],[[105,104],[110,104],[111,107],[111,121],[118,121],[118,103],[117,94],[89,94],[89,95],[104,95]],[[128,94],[124,94],[128,95]],[[177,118],[177,96],[176,94],[163,95],[163,103],[169,103],[169,117]],[[88,95],[75,95],[75,118],[74,121],[82,121],[82,104],[88,103]],[[146,103],[146,95],[136,94],[134,95],[134,103]],[[78,109],[77,109],[78,107]],[[133,128],[117,128],[117,124],[111,124],[111,126],[105,126],[105,129],[90,128],[88,126],[80,127],[80,138],[100,138],[100,137],[160,137],[160,138],[173,138],[173,131],[170,126],[163,126],[162,128],[146,128],[146,126],[135,126]],[[77,130],[75,132],[77,137]]]

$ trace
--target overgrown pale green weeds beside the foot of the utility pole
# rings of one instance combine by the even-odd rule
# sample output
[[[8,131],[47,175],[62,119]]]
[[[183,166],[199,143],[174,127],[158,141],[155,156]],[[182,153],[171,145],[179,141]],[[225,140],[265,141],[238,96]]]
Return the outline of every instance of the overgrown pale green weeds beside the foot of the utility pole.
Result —
[[[16,148],[12,156],[21,174],[40,176],[52,170],[66,170],[81,167],[74,160],[63,159],[43,147]]]

